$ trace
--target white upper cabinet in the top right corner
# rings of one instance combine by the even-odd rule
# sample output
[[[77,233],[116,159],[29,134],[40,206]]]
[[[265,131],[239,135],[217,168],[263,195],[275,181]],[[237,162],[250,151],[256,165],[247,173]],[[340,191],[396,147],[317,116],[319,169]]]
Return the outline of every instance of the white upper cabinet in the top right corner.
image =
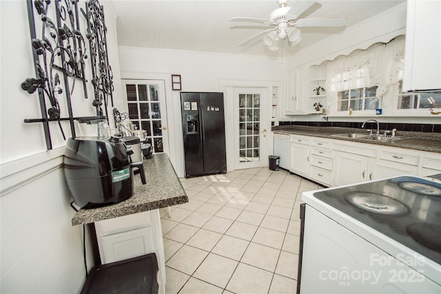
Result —
[[[408,0],[403,92],[441,90],[441,1]]]

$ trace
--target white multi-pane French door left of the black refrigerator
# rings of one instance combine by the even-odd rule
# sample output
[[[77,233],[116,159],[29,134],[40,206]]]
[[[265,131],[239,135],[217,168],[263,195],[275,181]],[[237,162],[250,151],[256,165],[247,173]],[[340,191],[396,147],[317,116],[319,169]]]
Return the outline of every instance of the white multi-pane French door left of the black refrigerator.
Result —
[[[128,119],[147,132],[154,153],[169,152],[165,83],[162,80],[122,79],[127,99]]]

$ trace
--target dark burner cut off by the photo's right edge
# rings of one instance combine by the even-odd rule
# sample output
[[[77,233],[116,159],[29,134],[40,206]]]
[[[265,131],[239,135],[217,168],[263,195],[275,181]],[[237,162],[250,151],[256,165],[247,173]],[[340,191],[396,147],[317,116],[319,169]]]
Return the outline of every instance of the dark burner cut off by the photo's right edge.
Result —
[[[406,232],[423,246],[441,253],[441,225],[417,222],[409,224]]]

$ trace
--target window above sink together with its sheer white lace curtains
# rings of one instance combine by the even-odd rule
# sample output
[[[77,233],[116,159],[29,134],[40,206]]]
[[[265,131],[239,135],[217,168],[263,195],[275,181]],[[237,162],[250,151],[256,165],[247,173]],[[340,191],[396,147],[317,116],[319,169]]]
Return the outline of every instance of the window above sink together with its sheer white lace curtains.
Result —
[[[325,88],[330,114],[348,114],[352,109],[358,115],[371,115],[383,106],[386,112],[393,112],[387,107],[396,97],[403,69],[404,36],[338,56],[327,65]]]

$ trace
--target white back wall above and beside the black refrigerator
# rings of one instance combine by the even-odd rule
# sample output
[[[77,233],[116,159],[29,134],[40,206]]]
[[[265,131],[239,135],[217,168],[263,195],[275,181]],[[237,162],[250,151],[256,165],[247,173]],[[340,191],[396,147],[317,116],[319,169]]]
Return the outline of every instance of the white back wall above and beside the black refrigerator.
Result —
[[[225,85],[243,87],[270,87],[283,80],[283,65],[280,59],[265,56],[234,54],[212,54],[178,50],[151,50],[146,48],[119,48],[122,78],[163,79],[166,87],[167,119],[170,136],[170,160],[178,176],[183,176],[183,136],[181,126],[181,98],[172,91],[171,74],[181,74],[183,92],[224,92],[225,117],[232,116],[232,96],[227,95]],[[226,82],[227,81],[227,82]],[[227,162],[231,162],[234,128],[232,121],[225,122],[227,129]],[[232,143],[232,142],[231,142]],[[231,154],[231,155],[230,155]],[[228,165],[231,169],[232,165]]]

